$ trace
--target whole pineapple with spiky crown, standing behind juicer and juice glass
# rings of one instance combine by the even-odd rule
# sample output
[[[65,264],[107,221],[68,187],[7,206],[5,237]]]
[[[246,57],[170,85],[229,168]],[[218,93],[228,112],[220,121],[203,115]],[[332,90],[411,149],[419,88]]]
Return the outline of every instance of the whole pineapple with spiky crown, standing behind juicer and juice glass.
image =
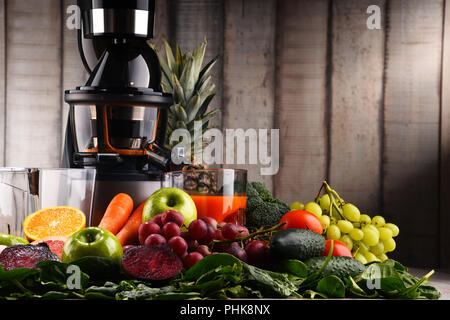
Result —
[[[151,46],[158,55],[161,65],[161,87],[165,93],[172,94],[174,99],[174,104],[169,109],[166,134],[166,146],[172,149],[174,143],[178,144],[178,141],[171,142],[170,139],[176,129],[187,129],[192,138],[194,138],[195,121],[201,121],[202,134],[210,129],[209,121],[217,113],[217,109],[208,111],[208,106],[216,95],[215,85],[211,83],[212,76],[209,73],[219,56],[202,68],[207,46],[206,39],[192,53],[183,54],[180,47],[176,45],[175,56],[167,40],[164,39],[165,58],[156,46],[153,44]],[[186,158],[190,158],[192,164],[184,166],[183,170],[207,168],[203,164],[196,163],[195,154],[192,152],[192,150],[196,150],[194,144],[203,148],[207,143],[201,139],[184,146]],[[214,194],[217,192],[216,177],[212,172],[188,172],[184,188],[201,194]]]

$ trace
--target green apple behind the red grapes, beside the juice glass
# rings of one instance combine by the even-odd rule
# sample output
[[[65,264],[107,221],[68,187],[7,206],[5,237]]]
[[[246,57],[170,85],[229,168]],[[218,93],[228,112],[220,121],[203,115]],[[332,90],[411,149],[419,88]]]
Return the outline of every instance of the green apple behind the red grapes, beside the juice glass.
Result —
[[[181,213],[186,227],[197,219],[197,207],[189,194],[178,188],[162,188],[155,191],[145,202],[142,222],[150,221],[167,210]]]

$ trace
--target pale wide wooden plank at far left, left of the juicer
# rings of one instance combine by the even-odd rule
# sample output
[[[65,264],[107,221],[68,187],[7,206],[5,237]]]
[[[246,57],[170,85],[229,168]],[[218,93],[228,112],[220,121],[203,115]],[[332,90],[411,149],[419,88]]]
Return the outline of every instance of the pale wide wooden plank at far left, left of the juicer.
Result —
[[[61,3],[6,1],[5,19],[5,165],[56,166],[62,142]]]

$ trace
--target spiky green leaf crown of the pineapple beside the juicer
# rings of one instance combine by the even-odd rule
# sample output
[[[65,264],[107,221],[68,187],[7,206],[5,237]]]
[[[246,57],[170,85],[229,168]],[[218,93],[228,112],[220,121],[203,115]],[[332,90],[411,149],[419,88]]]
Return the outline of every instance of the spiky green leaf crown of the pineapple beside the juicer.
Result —
[[[209,128],[209,121],[217,110],[208,111],[208,106],[216,95],[215,85],[211,83],[211,69],[218,60],[218,56],[209,61],[204,67],[207,41],[206,39],[191,53],[182,53],[178,45],[174,54],[172,48],[164,40],[165,57],[154,45],[151,45],[158,55],[162,70],[161,87],[164,92],[173,95],[174,105],[169,109],[167,145],[170,136],[176,129],[189,130],[194,136],[194,121],[201,121],[202,133]],[[195,143],[195,142],[194,142]]]

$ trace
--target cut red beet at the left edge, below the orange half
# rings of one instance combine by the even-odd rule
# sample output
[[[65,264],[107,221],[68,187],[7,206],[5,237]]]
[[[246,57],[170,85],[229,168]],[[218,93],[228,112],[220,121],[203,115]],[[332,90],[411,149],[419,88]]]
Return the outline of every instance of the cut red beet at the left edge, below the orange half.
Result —
[[[35,268],[38,262],[45,260],[59,261],[58,256],[50,250],[45,242],[36,245],[9,246],[0,254],[0,265],[5,270]]]

